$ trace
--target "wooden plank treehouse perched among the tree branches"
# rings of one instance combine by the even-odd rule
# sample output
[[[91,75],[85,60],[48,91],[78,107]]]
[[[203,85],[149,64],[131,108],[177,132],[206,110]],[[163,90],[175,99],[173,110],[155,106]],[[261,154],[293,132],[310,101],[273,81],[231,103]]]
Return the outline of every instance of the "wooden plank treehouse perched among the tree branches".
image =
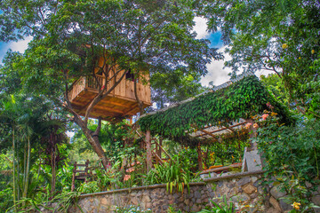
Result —
[[[116,79],[120,79],[124,72],[124,70],[120,71]],[[147,75],[143,77],[148,80]],[[99,75],[98,69],[95,70],[95,76],[89,75],[76,80],[68,91],[68,98],[76,113],[85,114],[92,99],[99,93],[100,85],[105,91],[108,91],[115,82],[115,80],[110,80],[107,86],[104,85],[105,77]],[[137,93],[144,108],[152,105],[150,86],[141,83],[140,79],[137,83]],[[140,112],[140,107],[134,94],[134,82],[132,75],[127,73],[115,89],[93,107],[90,117],[101,117],[103,120],[111,121],[117,117],[131,117],[138,112]]]

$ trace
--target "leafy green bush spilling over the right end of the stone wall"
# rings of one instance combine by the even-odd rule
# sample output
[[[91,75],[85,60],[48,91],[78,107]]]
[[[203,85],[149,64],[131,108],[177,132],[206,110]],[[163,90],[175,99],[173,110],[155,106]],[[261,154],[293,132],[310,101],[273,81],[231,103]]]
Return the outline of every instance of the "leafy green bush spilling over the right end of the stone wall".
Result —
[[[261,125],[255,141],[265,159],[265,184],[273,183],[282,189],[288,194],[285,201],[300,203],[301,212],[311,209],[312,192],[316,190],[313,187],[319,184],[320,175],[320,122],[301,117],[297,123],[285,126],[268,116]]]

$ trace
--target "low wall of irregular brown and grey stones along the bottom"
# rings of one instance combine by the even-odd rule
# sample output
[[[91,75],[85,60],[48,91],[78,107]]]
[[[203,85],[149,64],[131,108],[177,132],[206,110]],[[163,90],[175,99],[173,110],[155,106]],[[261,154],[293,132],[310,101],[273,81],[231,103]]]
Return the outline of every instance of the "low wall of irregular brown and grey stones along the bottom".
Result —
[[[166,185],[140,186],[101,193],[83,194],[78,205],[84,212],[114,212],[116,206],[140,206],[152,212],[166,212],[170,205],[182,212],[197,212],[210,205],[210,200],[219,201],[225,195],[235,203],[236,209],[248,212],[284,212],[292,209],[280,197],[285,193],[276,187],[264,189],[259,185],[261,171],[244,172],[225,177],[205,178],[204,182],[191,183],[190,193],[168,193]],[[267,191],[269,192],[267,192]],[[267,193],[266,193],[267,192]],[[267,202],[266,202],[267,201]],[[81,212],[74,207],[69,212]]]

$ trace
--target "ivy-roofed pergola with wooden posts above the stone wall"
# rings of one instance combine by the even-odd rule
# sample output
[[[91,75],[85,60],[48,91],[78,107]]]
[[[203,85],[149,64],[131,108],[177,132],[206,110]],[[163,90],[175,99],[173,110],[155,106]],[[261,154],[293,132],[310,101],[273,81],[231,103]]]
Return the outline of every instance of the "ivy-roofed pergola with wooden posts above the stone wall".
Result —
[[[148,169],[152,166],[151,134],[180,143],[215,142],[221,135],[244,130],[247,122],[253,122],[253,115],[270,110],[269,106],[280,120],[289,121],[285,106],[276,101],[255,75],[244,74],[194,98],[142,115],[138,122],[146,132]],[[247,131],[252,132],[251,137],[256,134],[252,125]],[[247,151],[257,153],[255,146]]]

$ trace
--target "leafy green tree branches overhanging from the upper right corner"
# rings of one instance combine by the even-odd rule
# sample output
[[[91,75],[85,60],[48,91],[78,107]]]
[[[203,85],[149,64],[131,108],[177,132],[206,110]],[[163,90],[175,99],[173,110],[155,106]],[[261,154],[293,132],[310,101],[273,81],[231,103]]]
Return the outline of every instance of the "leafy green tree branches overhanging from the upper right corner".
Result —
[[[234,75],[268,70],[283,81],[286,96],[304,114],[319,118],[320,7],[316,0],[200,1],[208,29],[222,31]],[[270,15],[272,14],[272,15]],[[308,87],[308,90],[306,90]],[[310,103],[310,96],[314,103]],[[315,103],[316,102],[316,103]]]

